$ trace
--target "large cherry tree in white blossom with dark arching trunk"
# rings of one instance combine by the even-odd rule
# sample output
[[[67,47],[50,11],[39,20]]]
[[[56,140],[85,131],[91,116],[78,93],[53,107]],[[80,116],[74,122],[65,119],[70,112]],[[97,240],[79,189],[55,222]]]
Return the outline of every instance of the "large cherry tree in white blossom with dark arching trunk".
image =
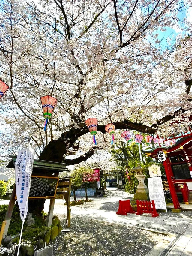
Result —
[[[40,159],[78,164],[110,146],[107,123],[154,134],[190,117],[191,23],[177,17],[191,1],[0,3],[0,78],[10,86],[1,101],[4,154],[36,144]],[[164,46],[157,30],[167,26],[181,32]],[[44,131],[47,94],[58,104]],[[99,120],[99,146],[89,117]]]

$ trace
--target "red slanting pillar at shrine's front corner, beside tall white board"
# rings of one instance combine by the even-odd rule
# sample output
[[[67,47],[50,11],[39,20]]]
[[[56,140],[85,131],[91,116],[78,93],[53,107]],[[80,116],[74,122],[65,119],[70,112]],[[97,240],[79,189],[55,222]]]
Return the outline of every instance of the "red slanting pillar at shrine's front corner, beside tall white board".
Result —
[[[174,208],[178,209],[178,208],[180,208],[180,204],[179,204],[179,200],[178,200],[178,197],[177,197],[177,194],[175,191],[175,187],[174,187],[174,184],[173,184],[173,181],[171,178],[172,170],[171,170],[169,158],[166,158],[166,160],[163,162],[163,165],[165,167],[165,173],[166,173],[167,181],[168,181],[168,184],[170,187],[170,192],[171,192],[171,197],[173,200]]]

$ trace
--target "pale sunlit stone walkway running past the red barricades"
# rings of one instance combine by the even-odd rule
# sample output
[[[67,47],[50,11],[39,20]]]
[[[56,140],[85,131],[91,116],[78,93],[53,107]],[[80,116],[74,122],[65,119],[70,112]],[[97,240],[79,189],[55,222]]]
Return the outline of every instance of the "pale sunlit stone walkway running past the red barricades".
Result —
[[[191,256],[192,255],[192,218],[187,218],[186,212],[178,214],[172,212],[161,213],[160,216],[152,218],[150,214],[127,216],[116,215],[119,206],[119,200],[131,199],[132,194],[112,188],[106,192],[108,197],[91,198],[93,202],[84,203],[79,206],[71,207],[71,216],[79,216],[87,219],[106,221],[119,225],[128,225],[149,231],[155,231],[169,235],[170,245],[166,248],[165,243],[158,243],[147,256],[174,255]],[[89,197],[90,198],[90,197]],[[77,198],[78,200],[79,198]],[[66,215],[67,207],[64,206],[64,200],[55,201],[54,213],[56,215]],[[49,200],[45,203],[45,212],[49,209]],[[144,255],[142,255],[144,256]]]

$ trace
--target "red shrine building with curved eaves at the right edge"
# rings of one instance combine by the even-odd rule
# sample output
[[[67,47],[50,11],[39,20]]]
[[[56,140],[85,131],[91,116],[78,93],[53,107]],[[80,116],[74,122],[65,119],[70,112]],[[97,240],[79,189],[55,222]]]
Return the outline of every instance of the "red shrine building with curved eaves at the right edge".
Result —
[[[154,149],[143,150],[152,158],[158,159],[158,152],[163,151],[166,160],[163,162],[170,188],[174,208],[180,208],[178,196],[182,194],[185,204],[192,204],[192,134],[175,138],[174,146],[158,146]],[[191,192],[190,192],[191,191]],[[182,192],[182,193],[181,193]]]

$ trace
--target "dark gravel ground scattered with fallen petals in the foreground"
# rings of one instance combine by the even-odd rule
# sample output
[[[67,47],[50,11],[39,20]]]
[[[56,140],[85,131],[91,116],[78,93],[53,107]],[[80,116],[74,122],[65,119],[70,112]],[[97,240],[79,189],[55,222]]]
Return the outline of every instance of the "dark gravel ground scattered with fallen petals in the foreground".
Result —
[[[58,217],[64,227],[65,218]],[[161,234],[80,217],[71,218],[70,228],[49,243],[53,256],[144,256],[158,242],[167,243]]]

